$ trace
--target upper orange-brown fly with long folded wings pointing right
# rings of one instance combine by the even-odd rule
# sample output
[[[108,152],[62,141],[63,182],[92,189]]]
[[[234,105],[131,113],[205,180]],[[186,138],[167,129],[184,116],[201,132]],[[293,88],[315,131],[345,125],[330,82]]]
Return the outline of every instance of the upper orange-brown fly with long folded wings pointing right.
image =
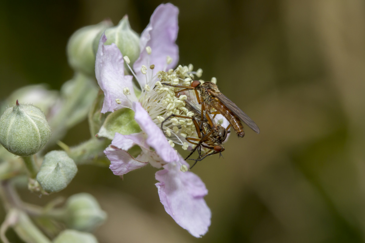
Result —
[[[228,99],[227,96],[223,95],[216,84],[212,82],[204,82],[201,84],[200,81],[197,80],[193,81],[190,86],[171,85],[166,83],[162,84],[176,88],[183,88],[175,93],[194,90],[196,99],[198,103],[201,104],[201,110],[205,111],[207,114],[221,114],[224,116],[232,125],[234,131],[239,137],[243,138],[243,136],[245,136],[242,121],[255,132],[260,133],[260,129],[256,123],[247,116],[245,112],[238,108],[235,103]],[[200,92],[200,95],[198,91]],[[215,109],[215,111],[212,111],[212,109]],[[203,117],[203,112],[201,113],[201,117]],[[203,120],[203,118],[201,119]]]

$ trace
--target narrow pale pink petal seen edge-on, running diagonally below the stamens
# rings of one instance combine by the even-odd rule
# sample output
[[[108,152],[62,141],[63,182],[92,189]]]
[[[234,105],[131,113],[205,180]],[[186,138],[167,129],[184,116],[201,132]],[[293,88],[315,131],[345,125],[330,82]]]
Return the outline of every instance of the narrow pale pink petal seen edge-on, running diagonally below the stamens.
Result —
[[[152,121],[142,105],[139,102],[133,102],[132,110],[135,112],[134,119],[137,121],[142,131],[148,136],[146,140],[147,144],[153,147],[158,156],[165,162],[178,161],[179,157],[176,151],[170,146],[164,133]]]

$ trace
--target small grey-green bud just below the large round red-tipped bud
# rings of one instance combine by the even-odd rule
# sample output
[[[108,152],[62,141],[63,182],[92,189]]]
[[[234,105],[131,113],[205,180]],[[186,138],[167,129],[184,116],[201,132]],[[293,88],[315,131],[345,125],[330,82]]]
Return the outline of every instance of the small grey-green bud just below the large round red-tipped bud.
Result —
[[[37,181],[48,192],[59,192],[66,188],[76,175],[77,166],[65,151],[51,151],[43,159]]]

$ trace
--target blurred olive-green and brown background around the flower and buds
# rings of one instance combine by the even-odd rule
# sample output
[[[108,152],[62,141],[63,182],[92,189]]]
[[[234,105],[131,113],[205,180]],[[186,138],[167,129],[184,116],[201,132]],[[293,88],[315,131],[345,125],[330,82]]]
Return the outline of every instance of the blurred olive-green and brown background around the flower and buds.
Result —
[[[209,232],[196,239],[164,211],[150,166],[124,181],[81,166],[58,195],[97,197],[108,212],[99,242],[365,242],[365,2],[171,2],[180,9],[179,63],[216,77],[261,130],[231,136],[224,158],[194,167],[209,190]],[[73,75],[65,47],[74,31],[128,14],[141,33],[160,3],[0,1],[1,99],[28,84],[59,89]],[[88,138],[84,121],[62,141]],[[20,193],[39,205],[55,197]]]

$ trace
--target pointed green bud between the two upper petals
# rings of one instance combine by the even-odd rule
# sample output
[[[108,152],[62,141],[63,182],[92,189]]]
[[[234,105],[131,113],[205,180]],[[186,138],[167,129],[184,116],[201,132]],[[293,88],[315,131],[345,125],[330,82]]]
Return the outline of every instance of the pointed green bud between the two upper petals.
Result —
[[[105,30],[105,36],[107,36],[107,41],[104,45],[115,43],[123,56],[129,57],[132,64],[137,60],[139,57],[139,36],[131,29],[127,15],[120,20],[117,26],[107,28]],[[94,40],[95,53],[99,46],[99,39],[95,38]]]

